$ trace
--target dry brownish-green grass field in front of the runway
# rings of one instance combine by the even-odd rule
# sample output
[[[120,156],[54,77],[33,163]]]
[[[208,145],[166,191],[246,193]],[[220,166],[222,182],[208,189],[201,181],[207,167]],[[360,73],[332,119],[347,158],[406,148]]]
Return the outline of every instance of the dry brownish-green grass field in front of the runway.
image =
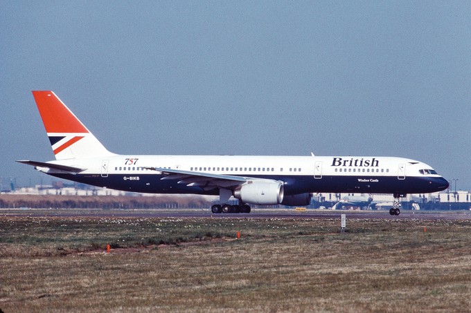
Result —
[[[470,220],[347,218],[0,216],[0,309],[471,311]]]

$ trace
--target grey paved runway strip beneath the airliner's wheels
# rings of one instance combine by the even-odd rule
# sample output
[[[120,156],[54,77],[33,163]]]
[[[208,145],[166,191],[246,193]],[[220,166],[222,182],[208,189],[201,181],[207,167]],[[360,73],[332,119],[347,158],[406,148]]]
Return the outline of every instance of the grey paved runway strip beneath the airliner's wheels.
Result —
[[[0,216],[58,216],[58,217],[115,217],[115,218],[260,218],[260,219],[336,219],[346,218],[384,220],[469,220],[471,211],[401,211],[391,216],[389,211],[341,211],[307,209],[254,209],[250,214],[212,214],[209,209],[0,209]]]

